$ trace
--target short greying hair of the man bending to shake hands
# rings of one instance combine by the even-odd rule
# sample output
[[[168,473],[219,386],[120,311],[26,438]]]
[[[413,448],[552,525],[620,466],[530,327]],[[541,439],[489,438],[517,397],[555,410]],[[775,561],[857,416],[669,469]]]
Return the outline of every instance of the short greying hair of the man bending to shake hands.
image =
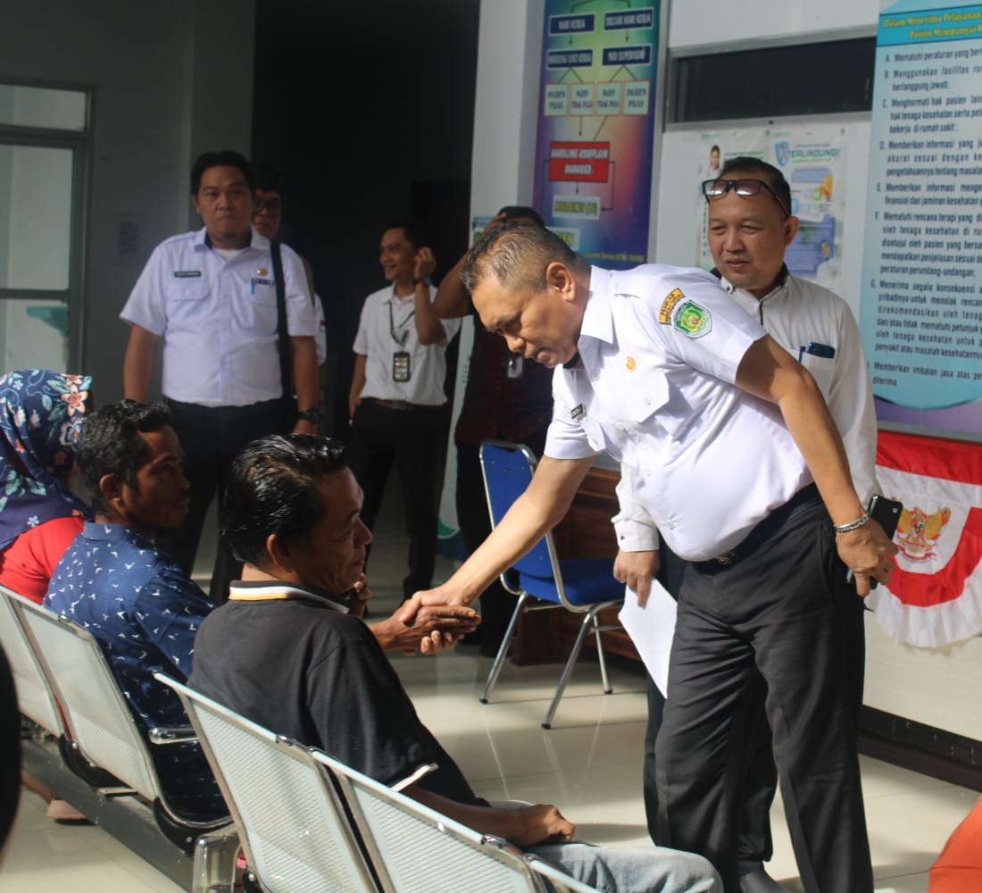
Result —
[[[509,291],[546,287],[546,267],[554,260],[574,270],[586,261],[551,230],[531,223],[505,220],[493,226],[467,252],[461,282],[468,292],[493,275]]]

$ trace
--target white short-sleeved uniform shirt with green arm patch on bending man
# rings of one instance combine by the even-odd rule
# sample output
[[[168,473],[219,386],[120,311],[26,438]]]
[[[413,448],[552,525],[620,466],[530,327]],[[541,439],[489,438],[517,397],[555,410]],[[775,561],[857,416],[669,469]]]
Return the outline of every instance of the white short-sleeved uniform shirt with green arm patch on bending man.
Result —
[[[688,560],[733,548],[812,480],[778,408],[733,383],[764,334],[703,270],[592,267],[546,455],[606,449],[631,470],[626,525],[654,523]]]

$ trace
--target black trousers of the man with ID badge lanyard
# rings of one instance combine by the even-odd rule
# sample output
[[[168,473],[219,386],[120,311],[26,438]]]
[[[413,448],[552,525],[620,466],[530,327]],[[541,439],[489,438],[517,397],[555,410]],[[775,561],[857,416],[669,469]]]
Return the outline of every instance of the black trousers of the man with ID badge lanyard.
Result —
[[[375,526],[393,463],[399,472],[409,533],[409,574],[403,597],[428,589],[436,564],[436,464],[439,458],[438,407],[393,410],[362,400],[352,419],[348,460],[364,493],[361,520]]]

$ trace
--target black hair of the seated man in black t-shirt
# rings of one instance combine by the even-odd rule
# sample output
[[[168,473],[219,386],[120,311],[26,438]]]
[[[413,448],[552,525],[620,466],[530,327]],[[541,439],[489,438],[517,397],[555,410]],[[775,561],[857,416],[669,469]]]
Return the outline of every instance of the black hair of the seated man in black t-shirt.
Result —
[[[266,538],[306,542],[324,520],[318,487],[327,474],[347,468],[340,440],[313,434],[270,434],[247,443],[232,463],[222,532],[236,558],[266,568]]]

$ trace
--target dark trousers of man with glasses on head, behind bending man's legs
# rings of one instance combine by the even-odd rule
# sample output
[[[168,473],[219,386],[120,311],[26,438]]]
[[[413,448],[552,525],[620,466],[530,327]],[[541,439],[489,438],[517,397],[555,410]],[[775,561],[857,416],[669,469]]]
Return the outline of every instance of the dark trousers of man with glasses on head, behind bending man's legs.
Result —
[[[661,542],[661,570],[658,579],[673,595],[682,588],[685,562],[665,542]],[[648,676],[648,726],[644,734],[644,812],[648,834],[658,845],[658,786],[655,771],[655,742],[662,727],[665,696]],[[759,680],[763,686],[763,680]],[[752,739],[743,779],[743,806],[739,822],[738,872],[740,875],[760,870],[774,855],[771,839],[771,804],[778,787],[778,769],[771,753],[771,727],[767,724],[764,698],[755,704],[756,715],[749,720]]]

